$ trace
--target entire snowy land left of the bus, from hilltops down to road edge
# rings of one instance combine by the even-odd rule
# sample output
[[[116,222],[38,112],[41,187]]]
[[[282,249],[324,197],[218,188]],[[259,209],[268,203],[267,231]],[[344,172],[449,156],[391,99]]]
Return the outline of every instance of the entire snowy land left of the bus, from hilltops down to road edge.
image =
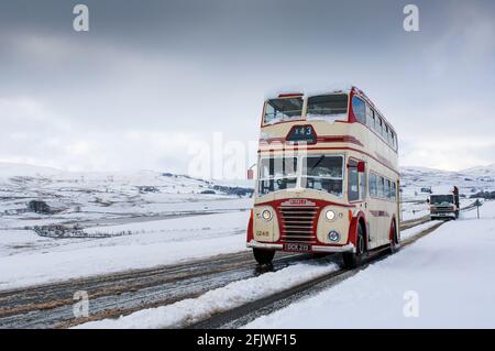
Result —
[[[0,289],[244,250],[252,199],[235,193],[244,190],[151,171],[72,173],[0,163]],[[53,212],[30,210],[31,200]],[[33,230],[76,223],[88,238]],[[95,233],[116,238],[90,238]]]

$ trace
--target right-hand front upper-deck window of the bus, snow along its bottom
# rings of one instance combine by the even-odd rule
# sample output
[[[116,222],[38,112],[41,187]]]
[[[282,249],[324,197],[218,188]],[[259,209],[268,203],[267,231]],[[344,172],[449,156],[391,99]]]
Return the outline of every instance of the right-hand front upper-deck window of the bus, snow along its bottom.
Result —
[[[310,97],[306,117],[308,120],[346,121],[348,96],[333,94]]]

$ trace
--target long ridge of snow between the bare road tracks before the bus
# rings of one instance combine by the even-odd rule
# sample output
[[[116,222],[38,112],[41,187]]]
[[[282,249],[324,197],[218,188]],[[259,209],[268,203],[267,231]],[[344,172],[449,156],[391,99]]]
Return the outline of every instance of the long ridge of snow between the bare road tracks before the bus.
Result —
[[[144,309],[119,319],[105,319],[78,326],[77,328],[170,328],[184,327],[264,296],[273,295],[293,286],[338,270],[336,264],[296,264],[278,272],[231,283],[208,292],[198,298],[190,298],[173,305]]]

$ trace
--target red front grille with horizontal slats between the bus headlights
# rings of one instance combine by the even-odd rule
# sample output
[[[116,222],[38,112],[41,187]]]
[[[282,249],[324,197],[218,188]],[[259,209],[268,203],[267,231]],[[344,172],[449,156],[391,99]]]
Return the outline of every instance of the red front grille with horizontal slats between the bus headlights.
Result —
[[[295,243],[316,243],[317,207],[279,207],[282,240]]]

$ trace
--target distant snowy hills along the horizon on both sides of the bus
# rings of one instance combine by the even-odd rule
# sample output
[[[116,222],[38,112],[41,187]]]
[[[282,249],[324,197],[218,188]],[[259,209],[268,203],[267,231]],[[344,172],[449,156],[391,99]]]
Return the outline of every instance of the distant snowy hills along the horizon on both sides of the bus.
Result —
[[[460,172],[449,172],[426,167],[402,167],[402,185],[411,191],[439,185],[455,185],[461,194],[495,190],[495,164]],[[187,175],[175,175],[154,171],[132,173],[109,172],[64,172],[50,167],[0,163],[0,185],[8,185],[0,193],[64,193],[64,190],[96,193],[162,193],[200,194],[209,190],[217,194],[234,195],[240,188],[252,187],[251,182],[208,182]],[[156,189],[154,189],[154,188]],[[69,190],[69,191],[70,191]],[[242,191],[241,191],[242,193]]]

